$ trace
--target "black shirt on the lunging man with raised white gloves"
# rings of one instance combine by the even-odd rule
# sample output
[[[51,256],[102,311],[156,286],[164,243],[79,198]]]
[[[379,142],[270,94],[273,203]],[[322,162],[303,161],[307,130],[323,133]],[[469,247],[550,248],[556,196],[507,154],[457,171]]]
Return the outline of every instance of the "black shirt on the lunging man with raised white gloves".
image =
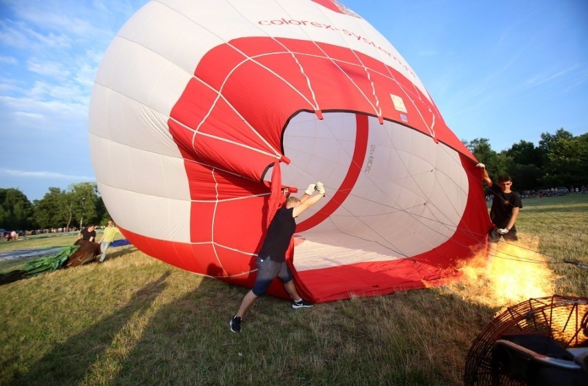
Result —
[[[272,261],[282,263],[286,260],[286,250],[294,232],[296,231],[296,221],[292,216],[294,208],[286,209],[281,207],[273,216],[268,228],[268,234],[264,240],[262,250],[259,256],[265,258],[269,256]]]

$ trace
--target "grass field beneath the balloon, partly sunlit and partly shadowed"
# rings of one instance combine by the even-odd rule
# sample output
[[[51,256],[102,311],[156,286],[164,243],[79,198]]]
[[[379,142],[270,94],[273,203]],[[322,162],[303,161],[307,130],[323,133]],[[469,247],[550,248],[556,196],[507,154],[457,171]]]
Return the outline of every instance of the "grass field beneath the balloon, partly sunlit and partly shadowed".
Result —
[[[542,280],[541,290],[587,296],[588,270],[563,261],[588,264],[588,195],[523,204],[522,247],[493,263]],[[0,252],[74,241],[27,238]],[[0,286],[0,385],[460,385],[472,339],[518,303],[493,296],[493,278],[478,271],[474,280],[311,309],[266,296],[233,334],[228,319],[245,288],[133,246],[109,252],[101,265]]]

